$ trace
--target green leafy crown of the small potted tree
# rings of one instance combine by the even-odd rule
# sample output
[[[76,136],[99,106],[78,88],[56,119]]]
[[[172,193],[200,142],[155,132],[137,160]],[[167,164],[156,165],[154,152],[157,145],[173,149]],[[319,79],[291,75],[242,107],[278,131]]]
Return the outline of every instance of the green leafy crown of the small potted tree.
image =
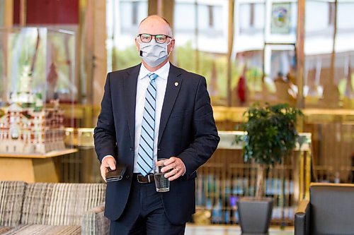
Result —
[[[245,113],[248,118],[241,126],[247,135],[244,139],[244,161],[253,159],[267,167],[282,162],[290,155],[297,142],[297,116],[299,109],[289,104],[253,104]]]

